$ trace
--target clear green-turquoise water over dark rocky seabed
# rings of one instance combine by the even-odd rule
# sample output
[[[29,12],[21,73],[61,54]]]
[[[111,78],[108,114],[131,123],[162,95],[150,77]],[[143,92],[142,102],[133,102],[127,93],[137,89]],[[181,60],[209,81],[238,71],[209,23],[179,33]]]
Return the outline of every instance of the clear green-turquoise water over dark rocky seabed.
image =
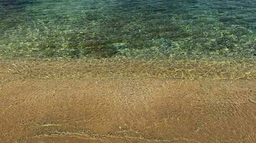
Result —
[[[255,56],[255,0],[0,0],[1,59]]]

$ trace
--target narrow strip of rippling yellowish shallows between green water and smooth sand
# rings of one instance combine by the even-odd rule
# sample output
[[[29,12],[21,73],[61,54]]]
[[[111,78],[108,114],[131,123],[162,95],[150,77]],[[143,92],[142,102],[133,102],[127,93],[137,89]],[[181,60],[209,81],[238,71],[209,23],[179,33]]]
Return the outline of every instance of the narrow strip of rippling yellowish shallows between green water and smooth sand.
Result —
[[[0,77],[32,79],[169,78],[256,79],[255,61],[175,60],[10,60],[0,62]]]

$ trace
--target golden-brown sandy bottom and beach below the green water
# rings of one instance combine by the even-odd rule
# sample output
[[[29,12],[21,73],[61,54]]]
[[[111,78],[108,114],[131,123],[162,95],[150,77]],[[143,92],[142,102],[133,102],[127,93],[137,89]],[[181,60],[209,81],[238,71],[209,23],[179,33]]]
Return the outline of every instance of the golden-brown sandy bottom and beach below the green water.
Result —
[[[0,142],[256,142],[255,66],[68,63],[0,64]]]

